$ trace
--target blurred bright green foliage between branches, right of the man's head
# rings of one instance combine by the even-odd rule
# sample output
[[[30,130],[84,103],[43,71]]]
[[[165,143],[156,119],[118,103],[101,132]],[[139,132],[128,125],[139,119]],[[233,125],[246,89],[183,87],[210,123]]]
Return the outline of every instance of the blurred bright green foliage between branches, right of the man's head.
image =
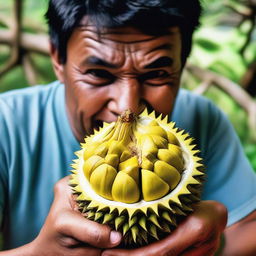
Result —
[[[241,3],[230,0],[226,3],[243,10]],[[247,40],[252,23],[243,22],[239,27],[225,24],[225,17],[230,17],[232,11],[223,5],[223,1],[204,1],[206,11],[201,19],[203,27],[194,36],[194,48],[189,62],[205,69],[212,70],[230,80],[239,83],[248,66],[256,59],[256,40],[252,40],[244,52],[241,49]],[[253,37],[256,38],[254,28]],[[195,89],[200,81],[190,74],[184,75],[183,86]],[[227,94],[212,87],[205,94],[213,100],[229,117],[244,146],[245,152],[256,171],[256,141],[251,136],[255,131],[249,131],[247,114]],[[256,114],[256,113],[255,113]]]

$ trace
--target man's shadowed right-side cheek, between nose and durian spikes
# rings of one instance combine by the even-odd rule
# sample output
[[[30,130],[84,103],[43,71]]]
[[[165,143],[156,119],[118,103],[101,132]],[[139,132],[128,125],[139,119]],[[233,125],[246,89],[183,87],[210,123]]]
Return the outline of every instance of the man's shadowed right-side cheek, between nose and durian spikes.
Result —
[[[150,87],[145,91],[145,100],[158,113],[170,114],[173,108],[177,88],[171,86]]]

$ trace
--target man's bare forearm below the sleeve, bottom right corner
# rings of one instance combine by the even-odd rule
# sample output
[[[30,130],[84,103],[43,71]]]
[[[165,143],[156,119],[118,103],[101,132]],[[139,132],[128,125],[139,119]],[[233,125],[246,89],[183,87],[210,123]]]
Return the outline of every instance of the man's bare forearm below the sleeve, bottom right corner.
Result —
[[[225,232],[223,256],[256,255],[256,212],[228,228]]]

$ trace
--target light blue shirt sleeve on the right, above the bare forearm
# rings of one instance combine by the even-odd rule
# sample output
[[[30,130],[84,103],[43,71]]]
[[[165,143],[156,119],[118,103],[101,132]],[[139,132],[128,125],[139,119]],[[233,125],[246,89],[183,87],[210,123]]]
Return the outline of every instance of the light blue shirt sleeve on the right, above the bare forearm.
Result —
[[[207,182],[203,199],[218,200],[228,208],[228,225],[256,209],[256,174],[226,116],[210,104],[210,132],[203,144]]]

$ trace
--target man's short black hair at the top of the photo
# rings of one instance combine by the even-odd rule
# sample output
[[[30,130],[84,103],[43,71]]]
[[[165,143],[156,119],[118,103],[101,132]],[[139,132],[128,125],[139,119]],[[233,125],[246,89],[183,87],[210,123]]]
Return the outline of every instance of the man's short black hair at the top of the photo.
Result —
[[[167,28],[179,26],[184,64],[200,14],[200,0],[49,0],[45,17],[62,63],[66,62],[67,42],[86,15],[98,29],[129,26],[145,34],[161,35]]]

